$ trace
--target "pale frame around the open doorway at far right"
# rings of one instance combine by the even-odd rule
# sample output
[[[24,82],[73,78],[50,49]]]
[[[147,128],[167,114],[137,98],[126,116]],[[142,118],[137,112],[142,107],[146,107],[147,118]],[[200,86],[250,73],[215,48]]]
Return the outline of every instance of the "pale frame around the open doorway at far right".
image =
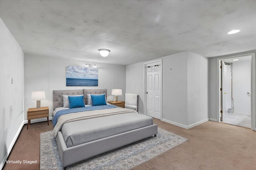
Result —
[[[255,92],[256,92],[256,59],[255,59],[255,53],[248,53],[248,54],[243,54],[243,55],[235,55],[235,56],[230,56],[230,57],[222,57],[222,58],[217,58],[217,89],[216,89],[216,94],[217,94],[217,122],[220,122],[220,61],[224,59],[232,59],[236,57],[245,57],[245,56],[252,56],[251,58],[251,127],[252,130],[255,131],[256,127],[256,100],[255,100]]]

